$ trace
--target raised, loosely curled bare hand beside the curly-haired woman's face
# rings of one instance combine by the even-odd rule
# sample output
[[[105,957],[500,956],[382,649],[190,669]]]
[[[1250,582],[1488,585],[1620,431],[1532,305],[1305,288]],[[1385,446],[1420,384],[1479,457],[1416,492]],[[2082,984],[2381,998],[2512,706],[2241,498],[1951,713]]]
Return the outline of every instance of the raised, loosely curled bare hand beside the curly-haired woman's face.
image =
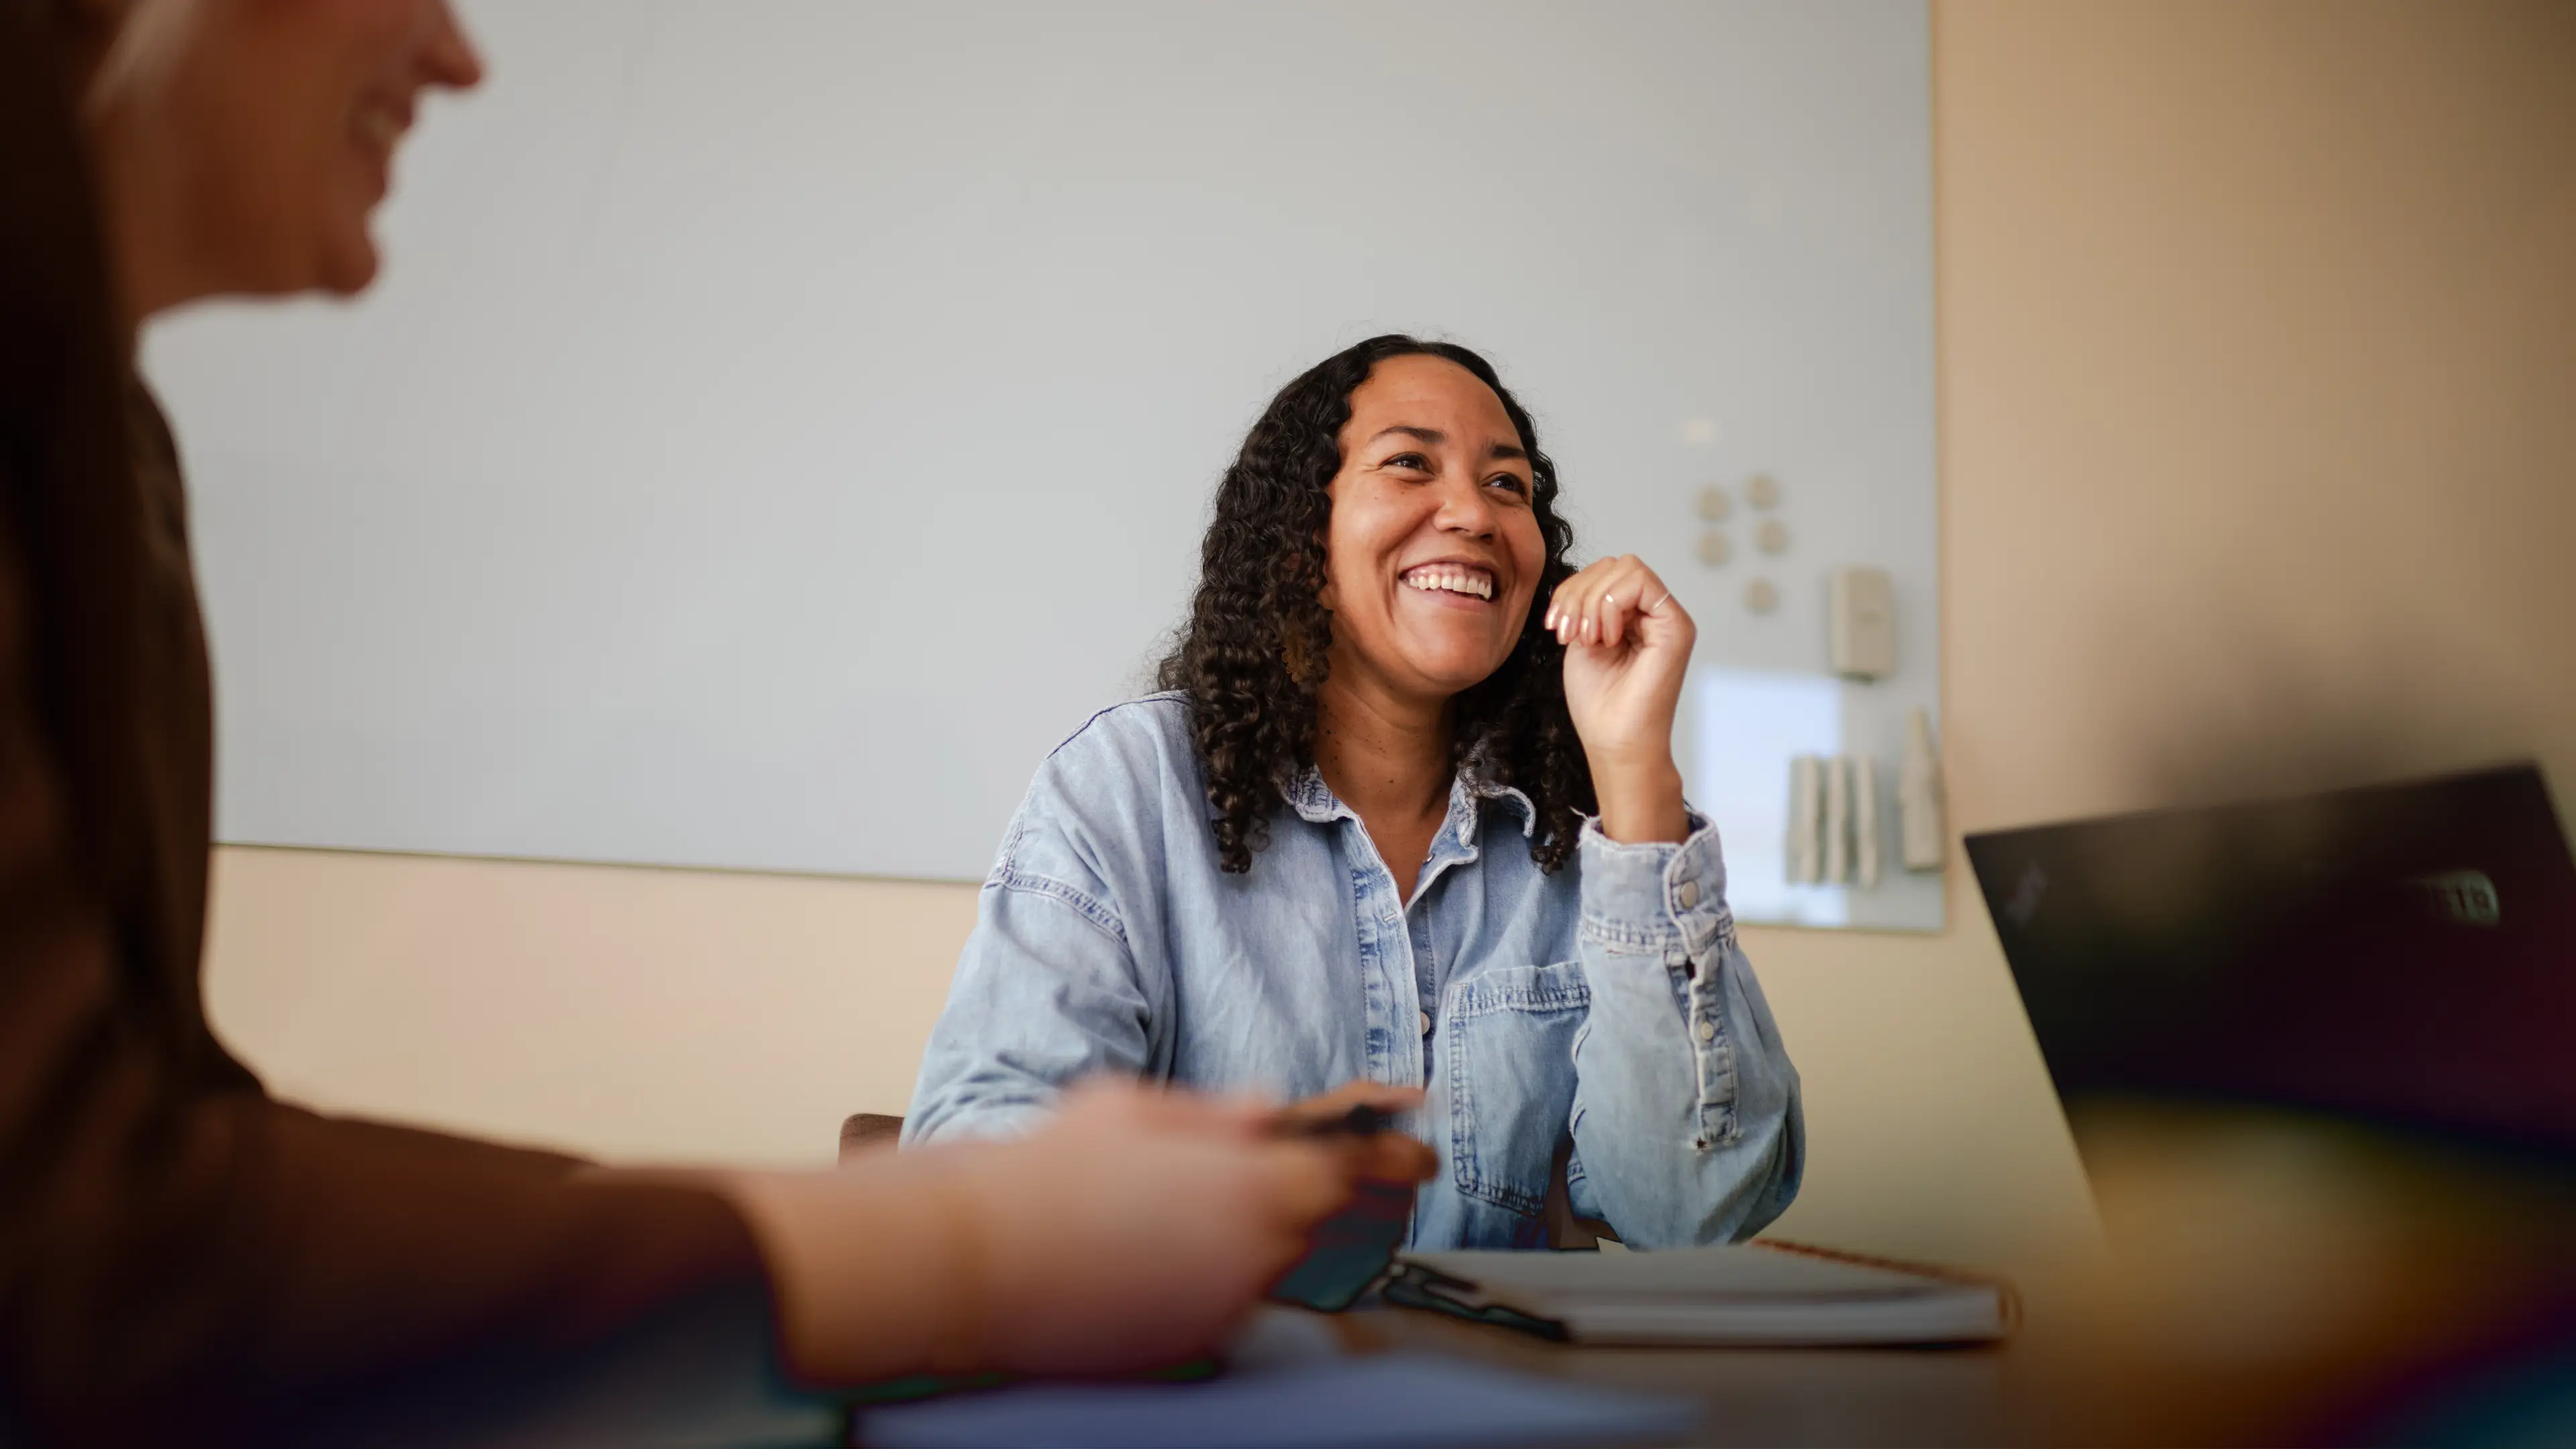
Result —
[[[1556,585],[1548,632],[1566,647],[1566,712],[1592,763],[1602,833],[1682,841],[1672,717],[1700,637],[1682,601],[1636,554],[1597,559]]]

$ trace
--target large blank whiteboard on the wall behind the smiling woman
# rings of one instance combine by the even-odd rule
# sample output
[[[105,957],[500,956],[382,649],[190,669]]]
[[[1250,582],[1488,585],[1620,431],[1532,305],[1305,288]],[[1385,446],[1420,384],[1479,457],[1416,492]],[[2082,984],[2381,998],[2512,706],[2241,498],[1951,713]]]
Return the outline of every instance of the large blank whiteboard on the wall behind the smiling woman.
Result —
[[[461,13],[489,83],[425,108],[381,284],[147,340],[227,841],[976,879],[1144,686],[1262,402],[1381,330],[1499,364],[1703,668],[1821,678],[1875,562],[1844,735],[1893,781],[1937,699],[1919,0]],[[1752,472],[1770,616],[1749,539],[1692,552]],[[1906,884],[1860,915],[1937,926]]]

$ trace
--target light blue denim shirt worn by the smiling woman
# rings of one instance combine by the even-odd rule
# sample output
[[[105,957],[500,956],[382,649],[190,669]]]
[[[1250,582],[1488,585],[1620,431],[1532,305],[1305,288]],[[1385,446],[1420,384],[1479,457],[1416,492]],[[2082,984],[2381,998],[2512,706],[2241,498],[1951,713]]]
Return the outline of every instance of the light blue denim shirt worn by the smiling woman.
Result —
[[[1090,1073],[1280,1098],[1427,1091],[1414,1248],[1540,1248],[1569,1207],[1636,1248],[1749,1238],[1798,1194],[1798,1073],[1726,910],[1718,835],[1530,861],[1517,789],[1450,789],[1409,902],[1306,771],[1218,869],[1180,696],[1092,717],[1028,786],[930,1034],[907,1142],[1007,1134]]]

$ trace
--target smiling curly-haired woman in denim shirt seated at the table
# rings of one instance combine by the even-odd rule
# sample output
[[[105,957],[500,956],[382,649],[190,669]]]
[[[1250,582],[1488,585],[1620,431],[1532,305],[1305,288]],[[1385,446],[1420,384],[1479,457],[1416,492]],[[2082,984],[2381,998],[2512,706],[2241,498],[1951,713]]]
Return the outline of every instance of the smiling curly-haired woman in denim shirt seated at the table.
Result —
[[[1672,763],[1692,624],[1571,547],[1481,356],[1370,338],[1280,389],[1164,691],[1059,745],[1002,841],[907,1140],[1110,1070],[1409,1111],[1419,1248],[1543,1245],[1556,1196],[1641,1248],[1777,1217],[1798,1073]]]

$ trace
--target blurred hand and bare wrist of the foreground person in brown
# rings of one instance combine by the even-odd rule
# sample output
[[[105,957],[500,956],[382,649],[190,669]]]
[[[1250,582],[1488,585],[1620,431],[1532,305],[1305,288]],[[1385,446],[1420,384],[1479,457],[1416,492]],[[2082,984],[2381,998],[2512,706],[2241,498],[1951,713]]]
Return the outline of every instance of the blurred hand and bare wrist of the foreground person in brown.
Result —
[[[1090,1083],[1020,1142],[876,1152],[726,1181],[811,1382],[1100,1374],[1224,1343],[1373,1155],[1278,1109]]]

